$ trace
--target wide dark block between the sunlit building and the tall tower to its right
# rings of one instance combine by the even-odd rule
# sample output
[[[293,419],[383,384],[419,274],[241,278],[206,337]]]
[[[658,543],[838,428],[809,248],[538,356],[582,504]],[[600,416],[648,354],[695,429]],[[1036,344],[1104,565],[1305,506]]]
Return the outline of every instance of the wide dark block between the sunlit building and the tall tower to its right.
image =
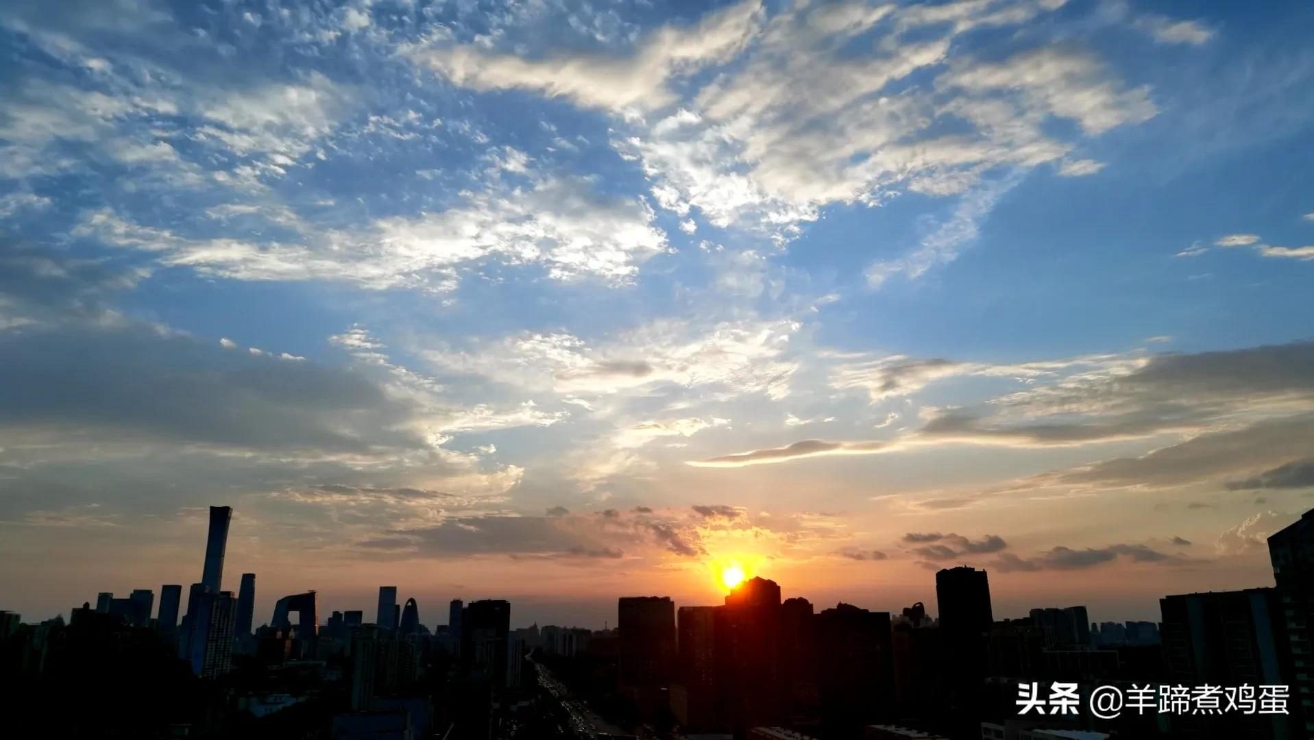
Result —
[[[821,719],[836,736],[894,714],[890,614],[841,603],[816,615]]]

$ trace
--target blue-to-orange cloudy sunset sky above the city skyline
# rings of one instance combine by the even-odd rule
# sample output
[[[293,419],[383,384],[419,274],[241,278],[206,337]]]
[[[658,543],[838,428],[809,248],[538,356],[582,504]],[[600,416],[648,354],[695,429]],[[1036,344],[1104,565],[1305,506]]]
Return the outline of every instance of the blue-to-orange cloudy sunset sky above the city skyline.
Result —
[[[13,0],[0,607],[996,618],[1314,507],[1314,7]]]

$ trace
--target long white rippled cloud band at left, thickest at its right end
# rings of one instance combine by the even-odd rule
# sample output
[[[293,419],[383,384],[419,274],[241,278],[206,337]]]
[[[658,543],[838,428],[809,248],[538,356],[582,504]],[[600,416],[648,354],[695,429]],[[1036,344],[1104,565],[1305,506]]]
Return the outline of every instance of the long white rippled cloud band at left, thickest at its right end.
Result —
[[[83,238],[142,250],[170,267],[235,280],[343,280],[364,288],[452,290],[485,260],[536,264],[556,280],[631,280],[666,251],[639,200],[599,197],[586,183],[540,179],[530,189],[491,187],[439,213],[388,217],[352,231],[325,230],[304,243],[185,237],[112,210],[87,213]]]

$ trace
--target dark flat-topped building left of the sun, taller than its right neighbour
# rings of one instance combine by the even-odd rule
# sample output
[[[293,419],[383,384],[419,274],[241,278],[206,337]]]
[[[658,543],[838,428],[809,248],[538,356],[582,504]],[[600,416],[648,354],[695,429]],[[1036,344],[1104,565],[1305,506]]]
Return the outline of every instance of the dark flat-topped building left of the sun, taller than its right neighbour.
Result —
[[[675,652],[675,605],[670,597],[622,597],[616,603],[619,634],[618,673],[622,693],[640,705],[670,682]]]

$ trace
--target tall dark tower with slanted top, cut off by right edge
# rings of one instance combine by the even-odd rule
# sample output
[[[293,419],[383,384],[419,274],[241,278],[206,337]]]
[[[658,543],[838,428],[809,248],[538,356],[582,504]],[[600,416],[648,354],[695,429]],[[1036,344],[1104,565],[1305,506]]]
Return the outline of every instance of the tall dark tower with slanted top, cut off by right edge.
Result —
[[[1314,509],[1268,538],[1268,557],[1281,599],[1282,631],[1290,643],[1292,697],[1300,737],[1314,737]]]

